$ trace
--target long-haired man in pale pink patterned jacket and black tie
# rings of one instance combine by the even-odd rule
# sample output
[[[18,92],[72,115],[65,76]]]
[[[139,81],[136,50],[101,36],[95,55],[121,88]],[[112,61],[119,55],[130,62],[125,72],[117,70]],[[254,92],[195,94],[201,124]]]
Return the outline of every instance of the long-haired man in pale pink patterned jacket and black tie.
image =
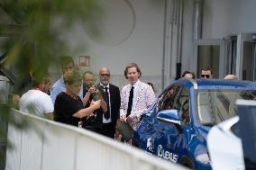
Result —
[[[131,63],[124,69],[124,76],[130,84],[123,86],[121,92],[120,121],[129,122],[133,130],[155,100],[151,85],[140,81],[142,72],[137,64]]]

